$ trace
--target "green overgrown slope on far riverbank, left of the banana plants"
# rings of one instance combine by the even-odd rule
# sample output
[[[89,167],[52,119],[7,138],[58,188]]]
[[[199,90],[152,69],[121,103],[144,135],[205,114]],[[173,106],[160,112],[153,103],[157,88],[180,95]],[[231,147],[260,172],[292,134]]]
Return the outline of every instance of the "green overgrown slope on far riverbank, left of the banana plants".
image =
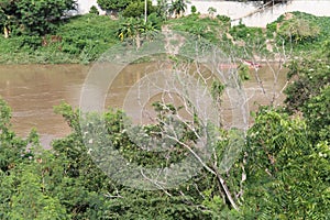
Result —
[[[119,42],[118,28],[119,21],[87,14],[43,37],[0,37],[0,63],[89,63]]]

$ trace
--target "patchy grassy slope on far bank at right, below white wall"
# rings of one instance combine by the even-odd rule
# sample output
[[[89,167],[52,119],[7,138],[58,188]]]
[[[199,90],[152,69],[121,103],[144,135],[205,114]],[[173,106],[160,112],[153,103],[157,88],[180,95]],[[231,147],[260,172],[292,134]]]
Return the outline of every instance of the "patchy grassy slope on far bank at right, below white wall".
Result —
[[[330,16],[315,16],[307,13],[294,12],[295,16],[316,24],[320,29],[317,38],[308,38],[299,43],[286,43],[286,53],[293,50],[294,56],[310,54],[319,50],[324,41],[330,38]],[[282,23],[284,16],[268,24],[267,29],[246,28],[243,24],[230,26],[224,18],[199,18],[198,14],[191,14],[185,18],[170,20],[167,22],[176,31],[189,32],[195,35],[206,37],[212,43],[217,43],[226,53],[237,57],[250,59],[253,55],[258,57],[272,57],[273,53],[266,50],[266,42],[278,42],[282,47],[280,36],[274,38],[277,23]],[[231,38],[228,38],[230,36]],[[272,43],[271,43],[272,44]],[[274,45],[273,45],[274,47]],[[274,51],[275,52],[275,51]]]

